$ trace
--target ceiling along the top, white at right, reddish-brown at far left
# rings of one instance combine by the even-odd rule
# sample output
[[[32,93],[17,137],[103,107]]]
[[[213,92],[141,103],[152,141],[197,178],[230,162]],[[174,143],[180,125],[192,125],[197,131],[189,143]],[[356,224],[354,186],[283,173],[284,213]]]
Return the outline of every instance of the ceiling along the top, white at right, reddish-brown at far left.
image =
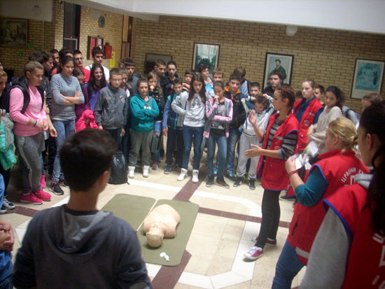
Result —
[[[0,15],[52,21],[52,1],[58,0],[0,0]],[[143,20],[172,15],[385,34],[385,0],[66,1]],[[38,17],[31,12],[36,3],[43,10]]]

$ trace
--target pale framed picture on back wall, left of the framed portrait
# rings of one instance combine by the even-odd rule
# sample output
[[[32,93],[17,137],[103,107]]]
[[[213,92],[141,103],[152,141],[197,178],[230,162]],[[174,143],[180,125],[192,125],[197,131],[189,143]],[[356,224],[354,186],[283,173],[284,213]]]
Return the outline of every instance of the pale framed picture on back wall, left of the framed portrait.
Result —
[[[199,70],[200,65],[207,65],[210,73],[218,67],[220,45],[194,43],[193,69]]]

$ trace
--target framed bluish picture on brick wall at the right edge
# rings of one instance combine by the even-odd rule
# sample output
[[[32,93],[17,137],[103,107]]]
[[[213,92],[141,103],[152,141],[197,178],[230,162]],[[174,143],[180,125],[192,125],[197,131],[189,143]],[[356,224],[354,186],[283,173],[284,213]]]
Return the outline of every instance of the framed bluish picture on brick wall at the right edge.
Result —
[[[356,59],[351,87],[352,99],[362,99],[367,92],[381,92],[384,64],[383,61]]]

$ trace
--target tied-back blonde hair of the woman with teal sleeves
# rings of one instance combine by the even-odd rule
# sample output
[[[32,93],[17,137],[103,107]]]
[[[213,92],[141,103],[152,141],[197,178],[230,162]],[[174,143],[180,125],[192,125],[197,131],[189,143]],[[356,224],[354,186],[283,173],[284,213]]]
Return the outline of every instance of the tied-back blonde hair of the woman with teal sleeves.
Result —
[[[356,126],[348,118],[337,118],[329,123],[330,136],[338,136],[345,150],[352,150],[357,144]]]

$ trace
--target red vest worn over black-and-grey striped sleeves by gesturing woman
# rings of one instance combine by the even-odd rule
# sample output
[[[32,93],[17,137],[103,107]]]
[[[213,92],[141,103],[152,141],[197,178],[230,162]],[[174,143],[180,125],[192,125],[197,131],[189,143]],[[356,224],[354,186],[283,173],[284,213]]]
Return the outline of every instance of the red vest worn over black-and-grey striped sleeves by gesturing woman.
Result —
[[[275,113],[270,117],[262,148],[267,147],[270,129],[278,117],[279,113]],[[272,144],[268,149],[279,150],[282,146],[285,136],[293,131],[298,131],[298,121],[293,113],[289,113],[286,120],[283,121],[283,124],[274,134]],[[295,146],[295,153],[297,153],[297,146]],[[285,162],[286,160],[280,160],[274,157],[260,157],[258,162],[257,175],[261,176],[262,174],[262,188],[267,190],[286,190],[286,188],[288,188],[290,181],[288,179],[288,173],[285,169]]]

